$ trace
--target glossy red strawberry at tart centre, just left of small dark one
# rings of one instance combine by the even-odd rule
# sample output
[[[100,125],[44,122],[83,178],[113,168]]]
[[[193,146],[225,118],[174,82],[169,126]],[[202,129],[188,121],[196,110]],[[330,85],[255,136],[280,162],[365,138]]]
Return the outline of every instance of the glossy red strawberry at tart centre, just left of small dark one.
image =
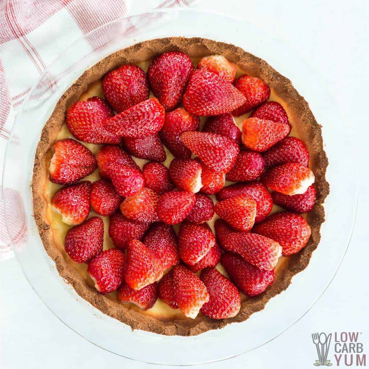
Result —
[[[159,220],[166,224],[181,223],[190,214],[196,197],[189,191],[169,191],[163,194],[156,207]]]

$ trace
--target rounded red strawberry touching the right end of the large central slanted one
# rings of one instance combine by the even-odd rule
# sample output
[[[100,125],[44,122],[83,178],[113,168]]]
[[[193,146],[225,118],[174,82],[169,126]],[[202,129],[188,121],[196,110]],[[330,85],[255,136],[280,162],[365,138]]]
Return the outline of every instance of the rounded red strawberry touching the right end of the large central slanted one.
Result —
[[[253,181],[261,175],[263,170],[264,158],[259,152],[242,150],[225,179],[231,182]]]

